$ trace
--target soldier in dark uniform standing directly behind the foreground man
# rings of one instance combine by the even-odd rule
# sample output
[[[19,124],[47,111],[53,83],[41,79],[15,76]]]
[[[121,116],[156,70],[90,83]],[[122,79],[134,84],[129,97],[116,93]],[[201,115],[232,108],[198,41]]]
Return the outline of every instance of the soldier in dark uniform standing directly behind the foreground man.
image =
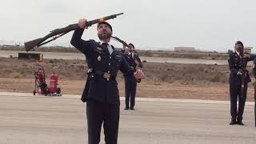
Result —
[[[129,44],[130,48],[128,48],[128,52],[125,53],[126,46],[123,46],[122,53],[125,54],[126,61],[129,63],[130,68],[136,71],[136,66],[142,68],[141,59],[138,57],[138,53],[134,51],[134,45],[132,43]],[[136,88],[137,82],[141,82],[141,79],[136,79],[134,76],[125,75],[125,89],[126,89],[126,108],[125,110],[134,110],[135,105],[135,96],[136,96]]]

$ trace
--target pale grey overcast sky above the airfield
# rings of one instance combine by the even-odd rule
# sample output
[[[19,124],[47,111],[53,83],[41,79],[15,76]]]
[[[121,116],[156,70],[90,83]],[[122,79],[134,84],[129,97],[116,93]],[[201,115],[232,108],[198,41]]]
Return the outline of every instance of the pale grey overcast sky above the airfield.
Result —
[[[255,0],[1,0],[0,40],[26,42],[117,13],[125,14],[109,21],[114,35],[140,49],[227,51],[237,40],[256,49]],[[70,46],[72,33],[50,44]],[[82,38],[98,40],[96,33],[91,26]]]

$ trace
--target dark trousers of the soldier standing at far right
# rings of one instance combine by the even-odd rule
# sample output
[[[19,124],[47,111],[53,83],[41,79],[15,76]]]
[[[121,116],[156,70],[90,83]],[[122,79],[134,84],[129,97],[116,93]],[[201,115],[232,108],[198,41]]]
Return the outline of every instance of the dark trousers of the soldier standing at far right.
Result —
[[[244,88],[242,90],[241,85],[239,85],[238,83],[230,83],[230,114],[232,121],[242,121],[242,114],[245,108],[246,96],[247,84],[244,85]]]

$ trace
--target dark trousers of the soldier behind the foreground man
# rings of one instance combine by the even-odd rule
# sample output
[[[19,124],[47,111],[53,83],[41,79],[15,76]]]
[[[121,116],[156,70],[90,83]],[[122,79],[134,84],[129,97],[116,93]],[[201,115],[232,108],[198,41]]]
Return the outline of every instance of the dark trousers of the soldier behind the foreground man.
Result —
[[[135,77],[125,77],[126,107],[134,107],[137,81]],[[129,106],[130,102],[130,106]]]

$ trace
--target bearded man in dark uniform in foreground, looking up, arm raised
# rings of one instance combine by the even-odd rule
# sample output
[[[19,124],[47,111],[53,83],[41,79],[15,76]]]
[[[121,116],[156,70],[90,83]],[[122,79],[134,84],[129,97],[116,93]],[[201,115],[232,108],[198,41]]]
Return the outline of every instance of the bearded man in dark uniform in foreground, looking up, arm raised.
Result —
[[[81,39],[86,19],[80,19],[74,30],[71,44],[86,56],[88,75],[82,101],[86,102],[88,144],[100,142],[103,123],[106,144],[118,143],[120,101],[116,76],[118,70],[125,75],[134,75],[122,52],[109,44],[112,27],[108,22],[98,24],[98,38],[102,42]],[[135,78],[140,78],[139,73]]]

